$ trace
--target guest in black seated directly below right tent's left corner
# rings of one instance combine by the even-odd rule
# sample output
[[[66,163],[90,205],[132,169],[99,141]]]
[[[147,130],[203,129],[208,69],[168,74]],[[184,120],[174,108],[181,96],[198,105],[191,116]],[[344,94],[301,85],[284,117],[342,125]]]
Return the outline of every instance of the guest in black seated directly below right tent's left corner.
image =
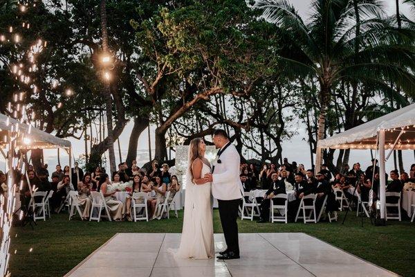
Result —
[[[320,210],[322,209],[326,195],[328,195],[326,202],[326,213],[331,211],[337,212],[338,202],[335,201],[335,196],[329,182],[326,181],[322,172],[318,172],[315,177],[317,178],[317,184],[313,190],[313,193],[315,193],[317,196],[317,199],[315,199],[315,213],[317,214],[316,217],[318,217]]]

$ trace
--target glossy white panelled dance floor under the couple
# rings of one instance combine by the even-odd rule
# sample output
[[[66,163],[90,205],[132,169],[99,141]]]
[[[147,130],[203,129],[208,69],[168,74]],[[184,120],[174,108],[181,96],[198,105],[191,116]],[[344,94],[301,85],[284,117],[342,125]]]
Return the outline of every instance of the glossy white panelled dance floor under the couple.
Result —
[[[216,253],[223,234],[215,234]],[[178,233],[118,233],[66,276],[397,276],[304,233],[241,233],[239,260],[175,260]],[[379,255],[382,255],[379,253]]]

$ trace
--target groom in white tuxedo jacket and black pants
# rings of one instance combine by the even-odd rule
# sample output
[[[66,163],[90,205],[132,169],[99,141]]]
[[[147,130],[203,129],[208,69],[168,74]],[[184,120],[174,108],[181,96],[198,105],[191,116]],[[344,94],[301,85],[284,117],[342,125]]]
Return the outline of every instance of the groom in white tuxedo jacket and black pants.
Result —
[[[239,179],[241,158],[223,129],[214,131],[213,143],[217,149],[220,149],[218,160],[212,167],[212,174],[205,175],[205,181],[212,182],[212,195],[218,199],[223,235],[228,246],[228,249],[220,252],[221,256],[217,258],[239,259],[237,217],[239,202],[242,198],[242,185]]]

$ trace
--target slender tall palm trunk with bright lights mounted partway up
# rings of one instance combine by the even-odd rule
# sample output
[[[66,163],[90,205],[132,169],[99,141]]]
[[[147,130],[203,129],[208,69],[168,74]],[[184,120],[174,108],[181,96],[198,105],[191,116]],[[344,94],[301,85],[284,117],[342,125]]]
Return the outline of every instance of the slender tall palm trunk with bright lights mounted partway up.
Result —
[[[102,52],[105,55],[109,53],[108,47],[108,33],[107,33],[107,1],[101,0],[100,13],[101,13],[101,32],[102,32]],[[112,99],[111,89],[109,82],[104,83],[104,91],[102,93],[105,99],[105,110],[107,113],[107,130],[108,130],[108,152],[109,152],[109,168],[111,173],[116,171],[116,154],[114,153],[114,136],[112,128]]]

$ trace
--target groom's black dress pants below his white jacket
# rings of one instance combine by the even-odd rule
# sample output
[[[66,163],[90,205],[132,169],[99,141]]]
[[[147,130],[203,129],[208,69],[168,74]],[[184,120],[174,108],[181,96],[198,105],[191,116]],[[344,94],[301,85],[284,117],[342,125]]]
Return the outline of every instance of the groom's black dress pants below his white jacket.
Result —
[[[233,200],[219,200],[219,215],[221,217],[221,224],[225,242],[228,246],[228,251],[233,251],[239,256],[239,240],[238,240],[238,208],[241,199]]]

